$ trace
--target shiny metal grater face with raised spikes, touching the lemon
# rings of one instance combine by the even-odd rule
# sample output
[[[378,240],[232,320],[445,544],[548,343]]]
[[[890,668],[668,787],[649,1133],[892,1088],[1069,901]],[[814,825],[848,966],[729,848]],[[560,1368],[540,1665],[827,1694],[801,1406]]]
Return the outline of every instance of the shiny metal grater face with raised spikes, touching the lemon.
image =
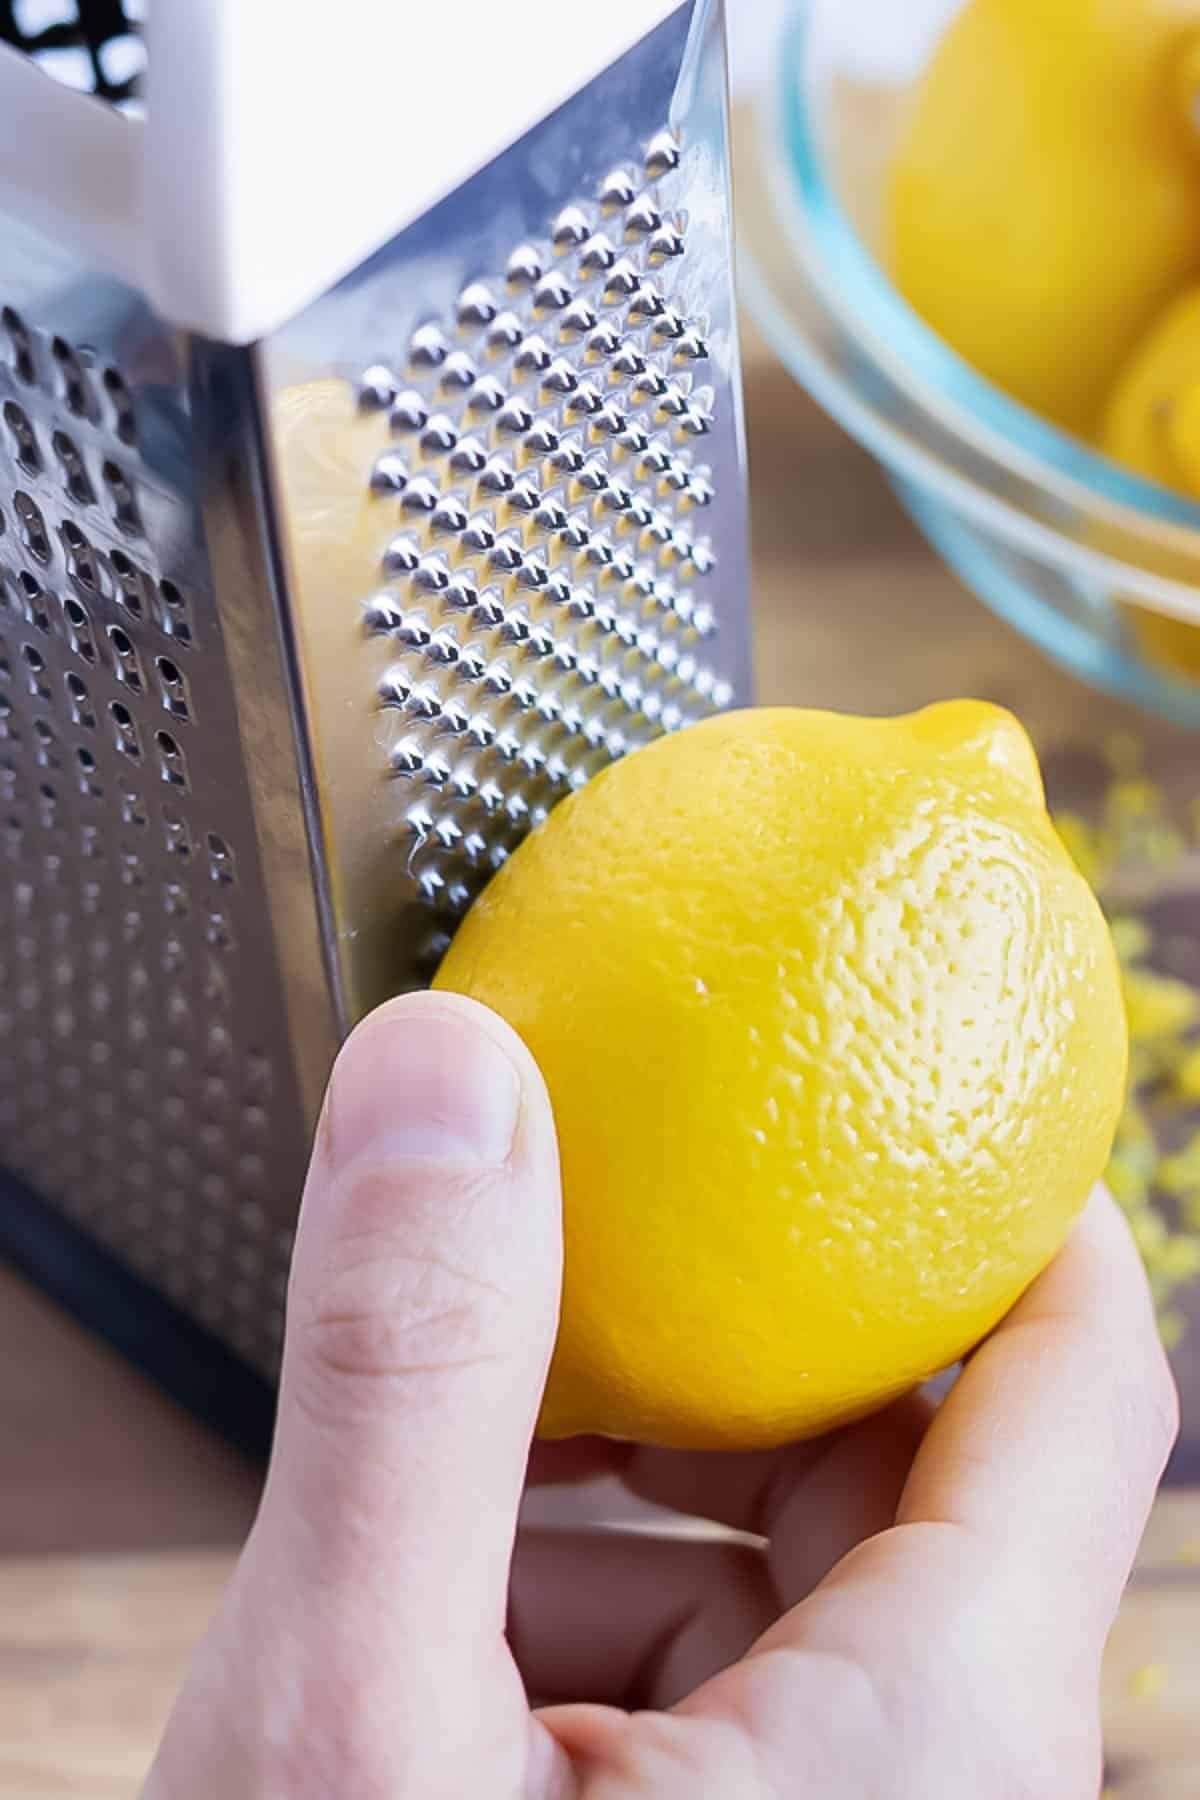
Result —
[[[264,346],[347,1015],[556,799],[747,691],[725,99],[684,7]]]

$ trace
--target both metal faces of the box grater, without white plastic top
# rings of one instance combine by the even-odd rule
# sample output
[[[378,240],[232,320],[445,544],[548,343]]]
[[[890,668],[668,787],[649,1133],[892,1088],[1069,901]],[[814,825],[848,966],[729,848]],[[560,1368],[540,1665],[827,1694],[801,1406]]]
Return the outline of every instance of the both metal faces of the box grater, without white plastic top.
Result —
[[[0,302],[0,1161],[270,1381],[340,1035],[747,693],[720,7],[255,344]]]

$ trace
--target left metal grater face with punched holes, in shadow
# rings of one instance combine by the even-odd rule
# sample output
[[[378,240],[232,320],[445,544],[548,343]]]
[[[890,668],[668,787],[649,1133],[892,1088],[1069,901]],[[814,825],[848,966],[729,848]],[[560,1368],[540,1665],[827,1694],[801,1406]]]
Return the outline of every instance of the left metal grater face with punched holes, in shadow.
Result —
[[[282,1008],[248,801],[214,756],[236,722],[209,571],[160,466],[182,394],[153,394],[148,459],[117,346],[0,301],[4,1163],[273,1375],[273,1183],[299,1184],[304,1127],[261,1035]]]

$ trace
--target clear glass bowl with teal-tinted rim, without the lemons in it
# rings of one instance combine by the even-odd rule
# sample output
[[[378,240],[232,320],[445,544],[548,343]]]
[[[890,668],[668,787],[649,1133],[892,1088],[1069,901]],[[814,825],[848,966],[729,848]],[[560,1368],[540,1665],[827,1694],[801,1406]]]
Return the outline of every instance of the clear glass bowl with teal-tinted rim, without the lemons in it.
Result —
[[[959,5],[790,0],[739,121],[750,311],[970,589],[1074,673],[1200,727],[1200,504],[1002,394],[876,254],[905,95]],[[1195,671],[1157,648],[1189,646],[1171,621],[1196,628]]]

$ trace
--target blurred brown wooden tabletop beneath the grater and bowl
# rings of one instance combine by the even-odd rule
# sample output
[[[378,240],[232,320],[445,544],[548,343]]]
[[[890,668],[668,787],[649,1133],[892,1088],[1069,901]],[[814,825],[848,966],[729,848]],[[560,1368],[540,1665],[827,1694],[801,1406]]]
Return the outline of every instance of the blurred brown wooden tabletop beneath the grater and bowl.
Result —
[[[1195,765],[1195,740],[1087,693],[964,598],[754,338],[748,412],[763,700],[896,711],[975,693],[1051,754],[1133,724],[1162,767]],[[1196,1361],[1182,1379],[1200,1433]],[[4,1271],[0,1370],[0,1800],[128,1800],[257,1478]],[[1105,1714],[1114,1795],[1200,1800],[1200,1487],[1159,1503]]]

